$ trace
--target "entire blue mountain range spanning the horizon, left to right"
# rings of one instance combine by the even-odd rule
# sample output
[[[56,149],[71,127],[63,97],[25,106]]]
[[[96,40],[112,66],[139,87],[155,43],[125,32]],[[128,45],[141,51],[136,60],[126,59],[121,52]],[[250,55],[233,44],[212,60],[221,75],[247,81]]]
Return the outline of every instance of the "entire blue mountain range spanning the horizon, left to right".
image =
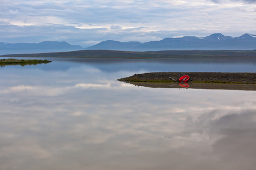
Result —
[[[123,50],[123,51],[159,51],[159,50],[255,50],[256,35],[245,33],[240,37],[224,36],[214,33],[206,37],[184,36],[179,38],[166,38],[150,42],[120,42],[107,40],[96,45],[82,48],[68,42],[43,41],[40,43],[7,43],[0,42],[0,55],[69,52],[75,50]]]

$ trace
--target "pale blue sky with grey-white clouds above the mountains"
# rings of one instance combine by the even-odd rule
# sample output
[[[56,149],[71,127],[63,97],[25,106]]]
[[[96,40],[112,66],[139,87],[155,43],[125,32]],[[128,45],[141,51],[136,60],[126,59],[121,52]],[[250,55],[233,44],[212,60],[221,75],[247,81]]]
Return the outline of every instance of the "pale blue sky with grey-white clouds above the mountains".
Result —
[[[0,42],[105,40],[256,34],[256,0],[0,0]]]

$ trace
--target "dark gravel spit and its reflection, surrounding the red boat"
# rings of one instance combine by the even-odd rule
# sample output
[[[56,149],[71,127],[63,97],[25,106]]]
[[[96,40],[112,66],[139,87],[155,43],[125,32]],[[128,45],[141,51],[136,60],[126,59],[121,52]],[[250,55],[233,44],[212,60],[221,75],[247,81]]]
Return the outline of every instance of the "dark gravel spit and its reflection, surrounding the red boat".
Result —
[[[183,84],[187,87],[178,81],[182,75],[190,76],[188,84]],[[152,88],[256,90],[256,73],[159,72],[134,74],[118,80]]]

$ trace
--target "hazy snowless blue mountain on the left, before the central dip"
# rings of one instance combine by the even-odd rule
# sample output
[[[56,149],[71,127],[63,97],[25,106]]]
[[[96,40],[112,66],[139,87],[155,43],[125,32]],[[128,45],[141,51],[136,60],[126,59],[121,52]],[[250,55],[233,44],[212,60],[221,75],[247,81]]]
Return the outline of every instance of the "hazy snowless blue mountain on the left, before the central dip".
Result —
[[[26,54],[26,53],[48,53],[68,52],[83,49],[79,45],[71,45],[68,42],[43,41],[40,43],[7,43],[0,42],[0,54]]]

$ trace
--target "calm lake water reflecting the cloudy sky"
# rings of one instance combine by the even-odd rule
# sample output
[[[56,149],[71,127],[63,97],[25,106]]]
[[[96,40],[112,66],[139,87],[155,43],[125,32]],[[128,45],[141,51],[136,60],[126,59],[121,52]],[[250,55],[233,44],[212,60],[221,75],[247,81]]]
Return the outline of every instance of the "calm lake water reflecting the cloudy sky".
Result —
[[[0,67],[1,170],[255,169],[256,91],[117,81],[254,73],[255,59],[44,59],[52,63]]]

